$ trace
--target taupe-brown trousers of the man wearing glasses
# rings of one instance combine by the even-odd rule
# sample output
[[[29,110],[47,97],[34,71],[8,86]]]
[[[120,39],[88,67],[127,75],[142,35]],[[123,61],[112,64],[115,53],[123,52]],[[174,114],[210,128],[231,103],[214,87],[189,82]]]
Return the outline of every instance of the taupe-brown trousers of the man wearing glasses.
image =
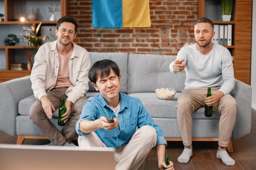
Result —
[[[54,88],[47,93],[48,99],[52,102],[55,110],[61,106],[62,97],[67,98],[65,92],[68,87]],[[87,99],[86,95],[78,99],[71,107],[71,116],[66,122],[64,128],[60,131],[56,126],[47,118],[43,110],[41,102],[37,99],[29,109],[29,117],[37,128],[47,136],[47,138],[54,145],[63,145],[66,141],[71,143],[76,134],[76,121],[81,115],[83,104]]]

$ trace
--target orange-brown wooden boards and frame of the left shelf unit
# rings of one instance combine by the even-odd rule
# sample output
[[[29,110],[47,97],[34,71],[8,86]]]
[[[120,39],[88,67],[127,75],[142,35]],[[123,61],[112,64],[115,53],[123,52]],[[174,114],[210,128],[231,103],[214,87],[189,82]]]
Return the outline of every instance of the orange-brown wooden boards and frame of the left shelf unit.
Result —
[[[42,26],[47,25],[56,25],[57,21],[48,21],[48,20],[36,20],[36,21],[17,21],[15,20],[15,13],[14,13],[14,5],[15,2],[45,2],[47,4],[51,4],[52,0],[0,0],[0,2],[4,2],[4,21],[0,22],[0,28],[1,26],[12,26],[12,25],[29,25],[29,26],[36,26],[42,22]],[[61,17],[65,16],[67,13],[67,0],[54,0],[59,1],[60,6],[59,9],[61,9]],[[48,11],[47,11],[48,12]],[[1,33],[0,33],[1,35]],[[6,36],[6,35],[5,35]],[[22,70],[22,71],[14,71],[10,70],[10,64],[15,63],[15,51],[21,50],[25,51],[26,49],[33,48],[32,46],[0,46],[0,50],[4,50],[5,53],[5,69],[0,69],[0,82],[5,82],[10,79],[23,77],[26,75],[30,75],[31,71],[29,70]],[[1,61],[2,62],[2,61]]]

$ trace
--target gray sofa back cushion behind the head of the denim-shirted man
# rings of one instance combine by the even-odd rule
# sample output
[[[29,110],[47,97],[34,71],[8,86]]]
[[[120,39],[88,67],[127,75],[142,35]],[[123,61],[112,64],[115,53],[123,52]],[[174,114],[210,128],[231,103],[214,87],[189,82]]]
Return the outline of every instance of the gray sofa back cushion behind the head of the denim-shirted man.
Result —
[[[113,60],[117,63],[121,74],[121,89],[120,92],[127,93],[127,81],[128,81],[128,54],[127,53],[96,53],[89,52],[91,67],[92,65],[104,59]],[[89,82],[89,91],[95,92],[95,88],[92,86],[92,82]]]

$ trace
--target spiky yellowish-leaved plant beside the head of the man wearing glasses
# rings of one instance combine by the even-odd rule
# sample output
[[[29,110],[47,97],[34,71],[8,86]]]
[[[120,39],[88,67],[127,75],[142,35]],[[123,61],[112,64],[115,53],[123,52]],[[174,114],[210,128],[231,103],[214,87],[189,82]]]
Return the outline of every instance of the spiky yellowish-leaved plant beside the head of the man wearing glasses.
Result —
[[[29,42],[28,43],[29,45],[34,46],[33,49],[29,48],[29,50],[31,50],[34,54],[36,54],[40,45],[43,44],[43,41],[46,38],[49,39],[47,35],[38,36],[38,31],[40,29],[41,24],[42,22],[40,22],[36,28],[34,26],[31,26],[31,28],[27,26],[23,26],[22,27],[23,31],[29,31],[29,33],[27,33],[26,35],[20,34],[25,38],[27,42]]]

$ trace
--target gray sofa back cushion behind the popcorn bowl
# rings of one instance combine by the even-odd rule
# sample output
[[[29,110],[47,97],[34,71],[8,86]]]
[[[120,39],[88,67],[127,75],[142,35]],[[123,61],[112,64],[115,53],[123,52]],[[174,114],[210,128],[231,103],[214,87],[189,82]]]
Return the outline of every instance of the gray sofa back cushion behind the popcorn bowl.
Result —
[[[181,92],[186,74],[184,71],[173,74],[169,65],[175,55],[129,54],[128,94],[155,92],[156,87],[175,88]]]

